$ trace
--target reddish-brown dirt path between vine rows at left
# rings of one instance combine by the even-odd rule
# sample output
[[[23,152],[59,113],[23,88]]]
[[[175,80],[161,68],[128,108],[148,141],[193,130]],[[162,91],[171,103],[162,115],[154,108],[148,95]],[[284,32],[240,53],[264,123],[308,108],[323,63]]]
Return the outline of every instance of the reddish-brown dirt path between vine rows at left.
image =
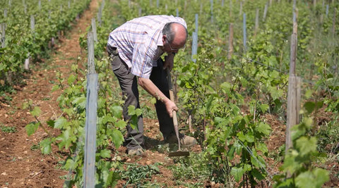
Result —
[[[81,18],[61,39],[50,60],[34,65],[32,73],[23,87],[16,88],[11,103],[0,103],[0,126],[16,127],[16,132],[0,131],[0,187],[62,187],[60,177],[68,172],[60,170],[60,156],[42,156],[37,144],[47,136],[42,130],[28,137],[25,125],[35,121],[23,103],[32,100],[34,106],[42,110],[40,121],[57,118],[61,113],[57,104],[58,92],[51,93],[56,73],[68,77],[70,65],[81,56],[78,39],[90,25],[90,19],[97,9],[99,0],[93,0]]]

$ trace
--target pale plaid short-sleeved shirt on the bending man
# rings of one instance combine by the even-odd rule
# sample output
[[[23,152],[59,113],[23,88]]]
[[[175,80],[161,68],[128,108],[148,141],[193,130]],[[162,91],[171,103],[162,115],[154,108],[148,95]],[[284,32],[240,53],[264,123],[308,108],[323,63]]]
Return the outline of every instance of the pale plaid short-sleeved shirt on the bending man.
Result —
[[[107,44],[117,47],[120,58],[133,75],[149,78],[157,59],[163,54],[162,29],[166,23],[186,26],[184,19],[173,15],[148,15],[134,18],[109,34]]]

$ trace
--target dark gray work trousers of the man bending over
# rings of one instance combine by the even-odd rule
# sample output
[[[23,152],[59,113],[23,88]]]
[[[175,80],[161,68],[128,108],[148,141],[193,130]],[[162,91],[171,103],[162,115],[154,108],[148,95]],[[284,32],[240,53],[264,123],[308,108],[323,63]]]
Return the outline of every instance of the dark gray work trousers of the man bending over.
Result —
[[[113,51],[112,51],[113,50]],[[115,51],[114,51],[115,50]],[[129,73],[129,68],[124,61],[119,57],[115,48],[107,46],[108,54],[111,58],[111,65],[114,75],[117,76],[119,84],[122,90],[124,106],[123,115],[124,120],[129,122],[131,116],[128,114],[128,107],[133,105],[136,108],[140,108],[139,92],[137,77]],[[150,75],[150,80],[160,89],[160,91],[169,98],[169,87],[167,82],[167,72],[162,68],[163,61],[159,58],[157,61],[157,67],[153,67]],[[164,138],[171,134],[175,134],[172,118],[166,111],[165,104],[161,101],[156,102],[155,110],[157,111],[157,119],[160,125],[160,132]],[[125,138],[125,144],[127,149],[135,149],[140,146],[143,147],[143,116],[138,117],[138,130],[133,130],[131,125],[127,125],[127,135]]]

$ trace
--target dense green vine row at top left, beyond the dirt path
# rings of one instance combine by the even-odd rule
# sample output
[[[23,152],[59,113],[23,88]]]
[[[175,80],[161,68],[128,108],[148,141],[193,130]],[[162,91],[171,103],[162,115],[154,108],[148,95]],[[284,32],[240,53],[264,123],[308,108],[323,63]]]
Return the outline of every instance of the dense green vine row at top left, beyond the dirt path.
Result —
[[[0,48],[0,80],[2,85],[20,83],[23,78],[23,62],[31,57],[33,60],[46,57],[52,37],[57,39],[58,32],[68,30],[76,15],[89,4],[89,0],[81,1],[1,1],[6,8],[7,17],[1,12],[0,23],[6,24],[5,46]],[[25,12],[25,11],[26,12]],[[35,18],[35,27],[30,25],[31,16]]]

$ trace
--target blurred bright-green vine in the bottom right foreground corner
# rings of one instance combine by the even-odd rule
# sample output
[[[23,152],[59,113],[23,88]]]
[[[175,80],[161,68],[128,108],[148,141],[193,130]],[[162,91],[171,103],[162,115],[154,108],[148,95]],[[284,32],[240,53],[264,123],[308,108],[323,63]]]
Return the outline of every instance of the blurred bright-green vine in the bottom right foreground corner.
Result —
[[[302,123],[292,127],[292,148],[285,153],[285,160],[280,167],[287,175],[275,175],[275,187],[322,187],[329,180],[328,171],[312,168],[311,162],[318,155],[317,139],[309,135],[313,121],[309,114],[316,111],[316,103],[304,105],[305,118]]]

